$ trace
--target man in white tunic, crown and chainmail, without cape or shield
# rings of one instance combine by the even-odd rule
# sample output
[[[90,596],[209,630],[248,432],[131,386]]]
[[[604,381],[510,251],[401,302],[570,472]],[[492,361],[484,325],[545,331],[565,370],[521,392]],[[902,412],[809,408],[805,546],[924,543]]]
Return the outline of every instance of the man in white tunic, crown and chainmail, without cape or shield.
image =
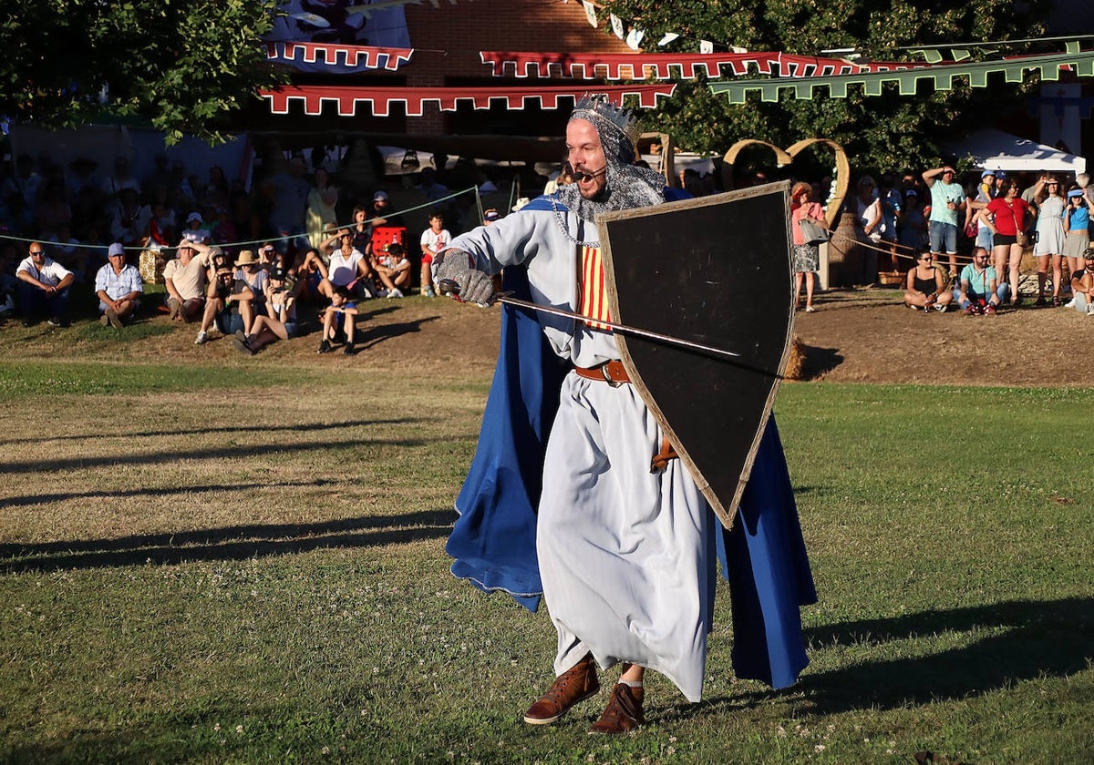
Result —
[[[439,280],[456,282],[461,299],[480,305],[494,299],[489,274],[523,264],[536,303],[590,317],[538,316],[555,352],[575,368],[562,384],[547,446],[536,530],[558,678],[524,719],[554,722],[598,692],[597,664],[622,663],[595,732],[644,722],[647,668],[699,701],[712,601],[717,521],[679,460],[650,472],[663,433],[628,384],[610,331],[596,321],[610,317],[595,215],[665,201],[663,177],[632,164],[635,138],[629,113],[583,98],[567,126],[575,181],[457,237],[435,263]]]

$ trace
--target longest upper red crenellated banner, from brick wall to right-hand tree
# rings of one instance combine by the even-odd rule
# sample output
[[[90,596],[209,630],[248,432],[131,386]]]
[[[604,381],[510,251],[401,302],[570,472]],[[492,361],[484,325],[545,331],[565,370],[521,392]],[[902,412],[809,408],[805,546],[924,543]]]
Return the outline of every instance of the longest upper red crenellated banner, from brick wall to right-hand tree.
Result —
[[[926,69],[924,61],[878,61],[854,63],[845,59],[754,51],[745,54],[556,54],[532,51],[480,50],[482,63],[494,76],[566,76],[578,80],[694,80],[705,74],[722,76],[722,68],[734,76],[755,74],[776,76],[833,76],[862,72],[887,72]],[[601,72],[597,72],[601,70]],[[675,72],[675,74],[674,74]]]

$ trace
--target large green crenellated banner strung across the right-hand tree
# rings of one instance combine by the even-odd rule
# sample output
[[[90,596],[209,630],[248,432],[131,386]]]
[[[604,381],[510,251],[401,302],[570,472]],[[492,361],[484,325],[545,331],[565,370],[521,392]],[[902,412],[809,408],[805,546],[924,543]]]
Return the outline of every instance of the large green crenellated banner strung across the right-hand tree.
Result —
[[[1094,52],[1064,52],[1046,56],[1023,56],[998,61],[933,64],[911,71],[880,71],[836,75],[824,79],[738,80],[715,82],[711,93],[724,94],[731,104],[744,104],[749,93],[758,92],[760,99],[769,103],[779,101],[781,93],[808,101],[816,89],[827,89],[828,97],[846,98],[848,87],[862,85],[868,96],[878,96],[886,84],[896,83],[900,95],[915,95],[920,81],[930,81],[934,90],[950,91],[957,78],[968,79],[970,87],[987,87],[988,75],[1002,72],[1006,82],[1022,82],[1026,72],[1037,72],[1043,80],[1059,80],[1060,69],[1074,69],[1079,76],[1094,76]]]

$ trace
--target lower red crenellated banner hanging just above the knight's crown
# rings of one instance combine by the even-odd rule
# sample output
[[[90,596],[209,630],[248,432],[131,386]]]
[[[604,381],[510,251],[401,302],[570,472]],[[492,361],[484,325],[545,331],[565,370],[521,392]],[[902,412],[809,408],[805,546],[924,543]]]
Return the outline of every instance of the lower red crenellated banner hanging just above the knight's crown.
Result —
[[[660,98],[668,98],[676,90],[675,83],[653,85],[608,85],[596,89],[606,93],[608,99],[620,105],[624,96],[637,96],[639,106],[652,109]],[[558,109],[572,106],[587,91],[586,87],[540,86],[540,87],[341,87],[329,85],[287,85],[275,90],[259,91],[268,98],[270,111],[276,115],[289,114],[289,106],[298,101],[304,104],[304,114],[318,116],[324,103],[337,105],[338,116],[352,117],[359,104],[372,109],[373,117],[389,117],[392,104],[403,104],[407,117],[421,117],[427,102],[437,103],[442,111],[455,111],[459,103],[470,102],[476,109],[489,109],[491,102],[504,101],[510,110],[519,111],[526,104],[538,104],[540,108]]]

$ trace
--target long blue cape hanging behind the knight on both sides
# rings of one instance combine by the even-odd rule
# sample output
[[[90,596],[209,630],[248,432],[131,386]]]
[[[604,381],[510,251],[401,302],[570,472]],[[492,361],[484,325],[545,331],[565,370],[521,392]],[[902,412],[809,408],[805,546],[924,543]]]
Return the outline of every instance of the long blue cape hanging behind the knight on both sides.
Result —
[[[542,200],[532,205],[547,207]],[[503,279],[504,290],[531,299],[523,268],[507,268]],[[485,592],[508,592],[529,611],[536,611],[543,593],[536,556],[543,457],[568,370],[532,311],[503,305],[498,366],[478,449],[456,497],[459,517],[445,545],[455,558],[455,576]],[[717,560],[730,584],[734,672],[776,688],[793,684],[808,663],[800,607],[816,602],[816,590],[773,416],[733,528],[711,526]]]

